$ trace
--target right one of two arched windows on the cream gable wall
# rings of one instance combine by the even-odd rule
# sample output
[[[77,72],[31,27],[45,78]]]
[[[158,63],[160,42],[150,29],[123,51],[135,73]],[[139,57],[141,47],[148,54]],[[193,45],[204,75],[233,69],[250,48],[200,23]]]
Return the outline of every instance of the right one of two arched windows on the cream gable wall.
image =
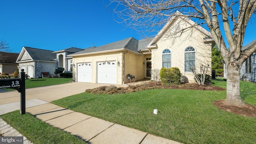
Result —
[[[196,52],[193,47],[185,49],[185,72],[192,72],[191,67],[196,66]]]

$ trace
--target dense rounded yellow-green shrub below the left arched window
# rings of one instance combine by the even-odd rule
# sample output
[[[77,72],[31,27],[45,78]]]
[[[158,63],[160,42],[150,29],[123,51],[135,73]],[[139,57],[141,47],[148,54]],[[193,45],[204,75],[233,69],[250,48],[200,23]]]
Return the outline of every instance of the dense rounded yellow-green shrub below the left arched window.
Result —
[[[160,70],[160,79],[165,85],[180,84],[180,75],[180,69],[177,67]]]

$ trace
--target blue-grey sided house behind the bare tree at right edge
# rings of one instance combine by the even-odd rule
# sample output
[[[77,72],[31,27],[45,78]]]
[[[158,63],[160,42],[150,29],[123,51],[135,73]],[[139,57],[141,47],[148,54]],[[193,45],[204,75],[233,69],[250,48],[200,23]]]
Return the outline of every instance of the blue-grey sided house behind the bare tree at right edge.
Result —
[[[256,40],[250,42],[246,46],[243,46],[241,50],[245,50],[246,48],[254,44],[254,42],[256,42]],[[227,78],[225,63],[224,63],[224,78]],[[256,82],[256,53],[253,53],[244,61],[240,70],[240,78],[243,80]]]

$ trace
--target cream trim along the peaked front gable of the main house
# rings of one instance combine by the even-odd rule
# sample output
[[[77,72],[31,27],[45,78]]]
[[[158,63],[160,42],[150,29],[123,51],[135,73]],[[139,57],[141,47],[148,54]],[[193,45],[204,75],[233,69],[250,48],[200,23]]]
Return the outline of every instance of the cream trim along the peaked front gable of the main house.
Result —
[[[211,33],[204,29],[202,26],[197,25],[196,22],[194,22],[193,20],[190,20],[190,18],[187,18],[185,16],[183,16],[183,14],[181,12],[176,12],[174,16],[172,16],[170,18],[170,20],[168,20],[168,22],[164,25],[164,27],[158,32],[158,34],[156,34],[156,36],[152,39],[152,41],[148,44],[147,48],[150,47],[155,47],[155,43],[157,42],[157,40],[159,40],[162,35],[164,34],[164,32],[168,29],[169,26],[171,26],[172,24],[174,24],[174,22],[176,20],[178,20],[178,18],[182,18],[182,20],[184,20],[185,22],[187,22],[188,24],[190,24],[191,26],[194,26],[193,28],[196,28],[197,30],[199,30],[202,34],[204,34],[207,38],[210,38],[210,40],[213,41]],[[206,41],[209,41],[209,39],[206,39]]]

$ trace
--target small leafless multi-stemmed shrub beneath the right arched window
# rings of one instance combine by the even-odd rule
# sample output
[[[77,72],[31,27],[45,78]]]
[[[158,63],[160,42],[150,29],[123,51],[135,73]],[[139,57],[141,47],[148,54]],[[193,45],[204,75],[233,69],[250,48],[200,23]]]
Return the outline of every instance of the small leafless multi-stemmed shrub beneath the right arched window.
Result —
[[[209,64],[207,66],[204,66],[204,65],[200,66],[200,73],[196,71],[196,68],[194,66],[190,68],[198,84],[202,84],[202,85],[205,84],[208,68],[209,68]]]

